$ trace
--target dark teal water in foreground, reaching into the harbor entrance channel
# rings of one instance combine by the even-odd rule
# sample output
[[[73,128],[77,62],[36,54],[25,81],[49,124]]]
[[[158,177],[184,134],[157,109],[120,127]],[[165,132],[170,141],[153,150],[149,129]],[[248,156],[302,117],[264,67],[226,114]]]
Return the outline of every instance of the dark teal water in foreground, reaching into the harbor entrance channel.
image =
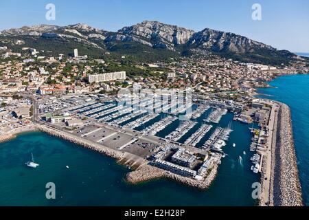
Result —
[[[214,126],[232,119],[228,113]],[[233,130],[228,156],[207,190],[168,179],[130,185],[124,181],[130,170],[114,159],[45,133],[23,133],[0,144],[0,206],[254,206],[252,184],[260,175],[250,170],[249,125],[233,121]],[[25,166],[32,152],[36,169]],[[47,182],[56,184],[54,200],[45,197]]]

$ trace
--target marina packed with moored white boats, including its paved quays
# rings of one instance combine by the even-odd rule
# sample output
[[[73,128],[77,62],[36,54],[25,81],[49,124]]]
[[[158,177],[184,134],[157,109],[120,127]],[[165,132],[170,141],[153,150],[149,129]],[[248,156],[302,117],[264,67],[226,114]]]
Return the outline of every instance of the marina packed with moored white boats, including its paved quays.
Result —
[[[100,101],[100,96],[66,96],[61,99],[62,109],[47,114],[43,109],[55,107],[48,100],[40,100],[38,120],[78,138],[126,153],[122,164],[128,168],[135,170],[147,164],[203,183],[209,181],[207,174],[213,168],[217,169],[222,159],[228,156],[225,148],[237,147],[229,142],[232,124],[240,123],[233,121],[235,115],[268,112],[268,109],[254,110],[254,107],[247,112],[242,105],[219,100],[205,102],[196,99],[194,103],[179,103],[181,97],[176,96],[175,102],[171,99],[172,94],[144,94],[142,97],[139,100],[136,96],[126,95],[106,102]],[[80,99],[88,104],[71,106],[71,99]],[[181,120],[181,115],[187,111],[190,118]],[[222,124],[222,118],[229,119]],[[264,126],[260,128],[254,124],[248,126],[248,131],[254,134],[253,142],[248,146],[248,152],[252,152],[254,173],[263,172],[263,155],[255,151],[262,150],[267,129]],[[239,155],[240,159],[244,154]]]

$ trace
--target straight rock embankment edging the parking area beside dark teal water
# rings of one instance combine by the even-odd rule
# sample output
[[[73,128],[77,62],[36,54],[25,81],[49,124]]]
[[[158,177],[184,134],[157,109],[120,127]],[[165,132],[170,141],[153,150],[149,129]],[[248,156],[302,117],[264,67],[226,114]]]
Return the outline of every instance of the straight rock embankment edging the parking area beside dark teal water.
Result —
[[[122,159],[124,157],[124,153],[120,151],[115,151],[111,148],[108,148],[106,146],[103,146],[101,144],[96,144],[94,142],[91,142],[89,140],[86,140],[82,137],[78,137],[76,135],[73,135],[71,133],[67,133],[65,131],[60,131],[58,129],[50,128],[48,126],[38,126],[38,129],[40,131],[43,131],[45,133],[48,133],[49,135],[54,135],[56,137],[60,137],[62,139],[68,140],[69,142],[72,142],[74,144],[78,144],[80,146],[84,146],[85,148],[89,148],[93,151],[97,151],[99,153],[102,153],[104,155],[107,155],[109,157],[113,157],[115,159]]]

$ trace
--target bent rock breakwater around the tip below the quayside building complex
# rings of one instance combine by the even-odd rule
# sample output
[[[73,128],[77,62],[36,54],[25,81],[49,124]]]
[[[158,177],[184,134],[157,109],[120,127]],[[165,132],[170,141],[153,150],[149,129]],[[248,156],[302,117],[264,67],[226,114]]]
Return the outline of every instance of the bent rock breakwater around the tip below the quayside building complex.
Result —
[[[188,186],[206,189],[216,178],[217,171],[218,166],[214,166],[203,181],[198,181],[196,179],[176,175],[175,173],[171,173],[167,170],[163,170],[161,168],[146,164],[144,166],[140,166],[139,168],[137,168],[137,170],[128,173],[126,175],[126,181],[128,181],[130,184],[138,184],[144,181],[150,181],[152,179],[159,179],[165,177],[168,179],[173,179],[174,181],[179,181],[182,184],[186,184]]]

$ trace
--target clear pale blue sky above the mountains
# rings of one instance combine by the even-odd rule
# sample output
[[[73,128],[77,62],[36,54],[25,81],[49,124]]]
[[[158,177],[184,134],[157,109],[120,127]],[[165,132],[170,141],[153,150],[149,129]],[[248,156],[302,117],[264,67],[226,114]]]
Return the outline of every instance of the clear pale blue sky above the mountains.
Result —
[[[56,5],[56,21],[45,19],[45,5]],[[253,3],[262,21],[251,19]],[[0,30],[23,25],[87,23],[115,31],[144,20],[195,31],[234,32],[280,50],[309,52],[308,0],[1,0]]]

